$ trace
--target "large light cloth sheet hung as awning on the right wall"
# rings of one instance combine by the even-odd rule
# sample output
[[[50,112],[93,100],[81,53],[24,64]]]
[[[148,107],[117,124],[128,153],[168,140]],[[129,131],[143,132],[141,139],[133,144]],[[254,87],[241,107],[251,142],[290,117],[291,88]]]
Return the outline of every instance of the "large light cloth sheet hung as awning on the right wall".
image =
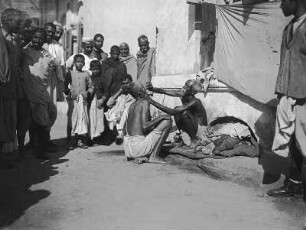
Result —
[[[217,6],[217,78],[261,102],[275,98],[285,18],[280,2]]]

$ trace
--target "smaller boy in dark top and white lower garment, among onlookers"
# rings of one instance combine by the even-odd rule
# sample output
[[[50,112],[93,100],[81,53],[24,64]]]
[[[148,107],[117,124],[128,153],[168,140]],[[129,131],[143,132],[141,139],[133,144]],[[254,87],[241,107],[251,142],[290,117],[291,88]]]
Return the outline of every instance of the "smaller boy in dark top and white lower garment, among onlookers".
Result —
[[[91,81],[93,83],[94,93],[89,100],[89,121],[91,140],[98,137],[104,131],[104,108],[102,105],[102,75],[101,64],[98,60],[90,62],[90,71],[92,72]]]

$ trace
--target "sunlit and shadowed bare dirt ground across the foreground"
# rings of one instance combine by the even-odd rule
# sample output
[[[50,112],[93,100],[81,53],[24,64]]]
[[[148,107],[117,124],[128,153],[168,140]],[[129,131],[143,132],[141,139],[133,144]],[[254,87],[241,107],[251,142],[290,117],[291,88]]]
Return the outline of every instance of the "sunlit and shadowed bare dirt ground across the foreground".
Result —
[[[15,168],[0,169],[3,229],[303,229],[306,223],[301,199],[265,195],[280,182],[262,185],[258,159],[171,155],[165,165],[136,165],[122,146],[68,152],[64,139],[56,142],[62,147],[50,161],[28,153]]]

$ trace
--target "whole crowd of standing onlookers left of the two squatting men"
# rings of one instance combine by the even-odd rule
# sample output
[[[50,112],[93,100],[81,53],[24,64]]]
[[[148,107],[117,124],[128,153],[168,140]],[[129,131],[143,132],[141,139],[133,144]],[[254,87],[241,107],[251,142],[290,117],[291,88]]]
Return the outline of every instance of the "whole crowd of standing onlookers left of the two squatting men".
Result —
[[[135,100],[127,89],[132,82],[145,84],[155,74],[155,49],[148,38],[138,38],[137,58],[129,45],[102,50],[98,33],[82,38],[82,52],[64,59],[63,26],[48,22],[33,27],[17,9],[1,14],[0,152],[13,146],[17,136],[18,159],[24,157],[25,135],[39,159],[56,149],[50,131],[57,118],[57,103],[66,101],[68,148],[87,148],[105,130],[123,141],[122,117]]]

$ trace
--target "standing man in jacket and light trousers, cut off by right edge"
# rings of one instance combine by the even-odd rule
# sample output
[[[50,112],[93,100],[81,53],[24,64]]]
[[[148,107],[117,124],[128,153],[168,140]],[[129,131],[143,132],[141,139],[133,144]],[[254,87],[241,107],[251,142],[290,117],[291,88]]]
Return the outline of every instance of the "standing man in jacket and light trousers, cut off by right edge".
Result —
[[[272,151],[291,165],[284,185],[268,195],[303,196],[306,202],[306,1],[282,0],[280,8],[285,17],[294,18],[283,31]]]

